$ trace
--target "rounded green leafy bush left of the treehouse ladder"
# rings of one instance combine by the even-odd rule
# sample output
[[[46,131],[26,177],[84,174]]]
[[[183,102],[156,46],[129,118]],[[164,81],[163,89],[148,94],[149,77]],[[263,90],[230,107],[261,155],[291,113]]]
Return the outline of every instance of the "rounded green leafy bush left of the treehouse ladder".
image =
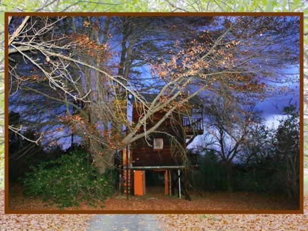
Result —
[[[88,158],[85,151],[77,150],[31,167],[32,172],[23,180],[24,194],[42,196],[60,208],[78,206],[84,200],[90,205],[94,200],[105,200],[115,192],[116,171],[108,169],[101,174]]]

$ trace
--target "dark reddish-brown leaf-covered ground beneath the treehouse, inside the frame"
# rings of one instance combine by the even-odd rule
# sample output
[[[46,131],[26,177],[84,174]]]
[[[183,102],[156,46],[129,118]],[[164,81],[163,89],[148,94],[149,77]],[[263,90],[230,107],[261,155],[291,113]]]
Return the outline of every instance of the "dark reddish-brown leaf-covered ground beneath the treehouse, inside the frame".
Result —
[[[9,208],[11,209],[59,209],[40,198],[24,197],[22,188],[10,191]],[[91,207],[85,202],[79,207],[65,209],[107,209],[107,210],[221,210],[221,209],[298,209],[297,203],[285,197],[274,197],[254,192],[202,192],[204,199],[191,193],[191,201],[166,197],[164,188],[155,187],[147,191],[146,196],[135,196],[127,201],[125,195],[98,202]],[[102,208],[101,205],[104,207]]]

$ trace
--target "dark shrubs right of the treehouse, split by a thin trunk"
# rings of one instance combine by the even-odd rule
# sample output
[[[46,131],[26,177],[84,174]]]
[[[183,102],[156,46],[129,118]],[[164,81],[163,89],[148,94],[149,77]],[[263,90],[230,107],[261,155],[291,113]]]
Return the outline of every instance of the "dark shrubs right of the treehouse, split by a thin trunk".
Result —
[[[233,189],[299,197],[299,113],[296,106],[283,108],[277,128],[256,125],[246,148],[232,163]],[[227,190],[226,168],[213,151],[198,158],[199,168],[190,177],[203,190]]]

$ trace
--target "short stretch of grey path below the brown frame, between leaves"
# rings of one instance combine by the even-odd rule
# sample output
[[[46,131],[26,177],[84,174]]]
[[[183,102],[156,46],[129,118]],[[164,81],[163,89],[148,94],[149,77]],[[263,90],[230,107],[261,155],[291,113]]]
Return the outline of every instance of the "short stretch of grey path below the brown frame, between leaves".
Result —
[[[121,214],[95,216],[88,231],[93,230],[160,231],[161,228],[154,215]]]

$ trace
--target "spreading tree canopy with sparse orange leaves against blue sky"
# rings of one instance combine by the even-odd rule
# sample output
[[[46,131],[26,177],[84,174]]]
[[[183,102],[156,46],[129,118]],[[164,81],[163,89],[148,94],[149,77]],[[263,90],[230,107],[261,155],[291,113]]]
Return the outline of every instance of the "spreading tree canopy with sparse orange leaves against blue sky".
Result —
[[[288,90],[296,80],[282,70],[299,65],[298,17],[13,17],[9,33],[9,104],[22,118],[10,129],[35,128],[44,146],[88,144],[103,171],[196,95],[263,100]]]

